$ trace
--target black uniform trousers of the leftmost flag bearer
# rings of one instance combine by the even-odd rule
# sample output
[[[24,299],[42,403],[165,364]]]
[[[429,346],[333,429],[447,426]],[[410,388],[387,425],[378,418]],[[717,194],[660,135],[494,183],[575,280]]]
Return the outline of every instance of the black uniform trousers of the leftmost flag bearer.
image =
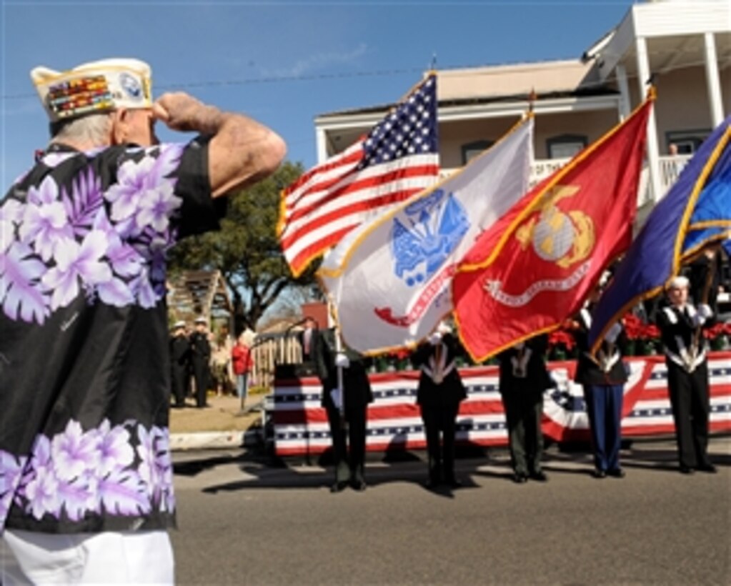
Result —
[[[343,421],[337,408],[330,405],[325,407],[330,438],[333,440],[335,482],[365,480],[366,408],[366,405],[349,408],[346,404]]]

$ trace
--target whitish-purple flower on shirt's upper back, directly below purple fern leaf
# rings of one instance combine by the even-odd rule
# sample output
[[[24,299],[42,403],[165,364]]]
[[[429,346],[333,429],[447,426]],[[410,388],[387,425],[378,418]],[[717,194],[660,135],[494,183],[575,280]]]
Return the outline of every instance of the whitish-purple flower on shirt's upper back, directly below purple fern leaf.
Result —
[[[45,287],[53,291],[51,310],[69,305],[79,293],[79,279],[85,285],[105,283],[112,278],[109,265],[102,262],[107,250],[104,232],[92,230],[81,244],[62,242],[56,247],[56,267],[43,276]]]

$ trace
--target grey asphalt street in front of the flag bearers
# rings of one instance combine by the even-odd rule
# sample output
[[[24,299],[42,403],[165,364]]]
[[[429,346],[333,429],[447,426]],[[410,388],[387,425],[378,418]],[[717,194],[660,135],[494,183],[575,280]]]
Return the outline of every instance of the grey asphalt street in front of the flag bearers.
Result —
[[[321,463],[240,450],[175,454],[182,585],[731,584],[731,438],[719,473],[677,471],[673,441],[623,450],[596,480],[548,449],[549,482],[510,482],[505,450],[463,452],[463,487],[430,492],[423,453],[371,455],[368,490]]]

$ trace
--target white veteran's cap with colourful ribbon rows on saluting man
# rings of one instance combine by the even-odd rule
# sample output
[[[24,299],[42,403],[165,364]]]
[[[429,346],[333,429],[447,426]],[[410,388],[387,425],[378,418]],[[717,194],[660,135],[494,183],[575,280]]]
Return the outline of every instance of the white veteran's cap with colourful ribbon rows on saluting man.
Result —
[[[151,69],[138,59],[102,59],[58,72],[31,71],[51,122],[117,108],[151,108]]]

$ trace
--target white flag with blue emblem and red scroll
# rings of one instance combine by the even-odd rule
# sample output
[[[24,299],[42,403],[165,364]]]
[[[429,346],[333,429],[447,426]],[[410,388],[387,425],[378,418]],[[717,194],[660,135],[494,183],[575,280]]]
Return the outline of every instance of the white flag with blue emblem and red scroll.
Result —
[[[447,180],[362,224],[318,275],[345,343],[365,354],[412,346],[452,311],[456,263],[526,193],[533,118]]]

